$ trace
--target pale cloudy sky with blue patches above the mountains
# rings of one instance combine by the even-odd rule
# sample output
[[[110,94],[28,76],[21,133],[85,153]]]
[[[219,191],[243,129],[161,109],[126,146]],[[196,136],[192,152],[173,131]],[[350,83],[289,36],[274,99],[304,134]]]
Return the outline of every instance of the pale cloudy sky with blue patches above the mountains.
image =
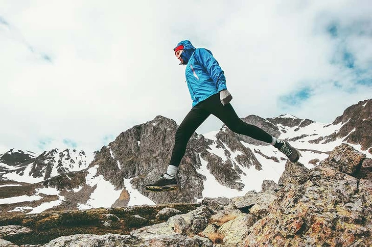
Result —
[[[180,124],[184,39],[212,50],[240,117],[331,123],[372,98],[369,0],[179,3],[2,0],[0,153],[93,152],[157,115]]]

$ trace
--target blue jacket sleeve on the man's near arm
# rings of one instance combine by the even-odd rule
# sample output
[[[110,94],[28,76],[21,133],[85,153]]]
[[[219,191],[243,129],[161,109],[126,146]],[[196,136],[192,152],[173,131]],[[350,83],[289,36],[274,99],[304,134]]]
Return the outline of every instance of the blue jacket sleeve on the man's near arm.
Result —
[[[216,84],[218,91],[227,89],[226,78],[223,74],[224,72],[218,64],[217,60],[210,52],[208,52],[204,48],[196,49],[195,58],[200,63],[200,65],[204,66],[207,72],[211,75],[211,78]]]

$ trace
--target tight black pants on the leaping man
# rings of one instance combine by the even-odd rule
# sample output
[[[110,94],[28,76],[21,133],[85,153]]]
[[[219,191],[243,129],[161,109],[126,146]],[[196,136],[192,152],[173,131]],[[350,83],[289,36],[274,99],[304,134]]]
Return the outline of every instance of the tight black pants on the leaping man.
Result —
[[[251,138],[266,143],[272,142],[272,136],[269,133],[257,126],[243,122],[235,113],[231,104],[222,105],[220,94],[218,93],[195,105],[183,119],[176,131],[170,164],[177,167],[179,166],[191,135],[211,114],[219,118],[235,133],[248,135]]]

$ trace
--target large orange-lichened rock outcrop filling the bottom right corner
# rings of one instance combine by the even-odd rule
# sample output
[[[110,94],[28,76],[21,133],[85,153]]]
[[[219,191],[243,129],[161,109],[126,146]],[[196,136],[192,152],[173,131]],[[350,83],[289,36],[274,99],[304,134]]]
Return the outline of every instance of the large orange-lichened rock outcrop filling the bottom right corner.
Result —
[[[355,159],[348,153],[340,159],[346,157]],[[270,213],[249,229],[245,244],[370,246],[371,215],[372,181],[323,164],[311,169],[303,183],[278,191]]]

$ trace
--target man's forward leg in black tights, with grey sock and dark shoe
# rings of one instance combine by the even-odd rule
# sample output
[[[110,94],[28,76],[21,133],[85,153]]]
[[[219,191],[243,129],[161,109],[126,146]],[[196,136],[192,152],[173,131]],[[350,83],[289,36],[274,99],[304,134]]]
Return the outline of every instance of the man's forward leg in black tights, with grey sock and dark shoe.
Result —
[[[201,104],[202,102],[194,106],[179,125],[176,131],[172,157],[167,172],[161,176],[159,180],[152,184],[146,185],[145,188],[147,190],[166,191],[173,190],[178,187],[175,177],[177,175],[179,163],[181,162],[181,159],[186,151],[186,146],[191,138],[191,135],[210,115],[210,113],[201,107]]]

